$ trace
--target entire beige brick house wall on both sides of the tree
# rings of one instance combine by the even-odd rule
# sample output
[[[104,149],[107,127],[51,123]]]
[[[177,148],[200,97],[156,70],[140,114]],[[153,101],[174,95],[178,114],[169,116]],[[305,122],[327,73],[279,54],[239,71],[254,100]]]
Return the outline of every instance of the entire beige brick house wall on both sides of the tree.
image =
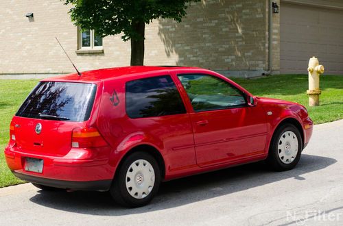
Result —
[[[147,25],[146,65],[187,65],[215,70],[268,68],[268,1],[207,0],[192,3],[182,23],[159,19]],[[104,53],[77,54],[77,29],[60,0],[0,1],[0,73],[69,73],[130,64],[130,42],[104,38]],[[25,17],[34,12],[34,21]],[[273,33],[278,48],[279,28]],[[278,68],[277,51],[274,68]]]

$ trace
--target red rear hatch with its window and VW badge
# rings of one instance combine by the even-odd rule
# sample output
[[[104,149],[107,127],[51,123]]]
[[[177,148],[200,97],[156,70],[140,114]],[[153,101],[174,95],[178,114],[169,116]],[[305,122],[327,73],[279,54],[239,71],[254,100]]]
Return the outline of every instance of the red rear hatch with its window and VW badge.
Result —
[[[42,81],[12,119],[16,145],[23,152],[63,156],[75,127],[91,116],[95,84]]]

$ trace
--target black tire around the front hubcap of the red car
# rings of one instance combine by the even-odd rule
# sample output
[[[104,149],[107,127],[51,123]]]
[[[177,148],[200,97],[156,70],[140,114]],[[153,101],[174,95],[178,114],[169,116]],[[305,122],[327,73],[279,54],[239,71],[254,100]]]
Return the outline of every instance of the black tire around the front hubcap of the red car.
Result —
[[[294,139],[294,135],[296,136],[296,139],[298,141],[298,152],[296,153],[295,158],[290,158],[289,155],[292,154],[287,153],[286,147],[284,151],[279,149],[279,147],[282,147],[282,145],[284,145],[282,143],[282,140],[285,140],[285,137],[281,138],[281,136],[289,136],[289,139]],[[294,143],[296,143],[296,140],[294,140]],[[300,131],[292,124],[285,124],[274,131],[272,140],[270,142],[270,148],[266,162],[274,171],[289,171],[290,169],[294,168],[296,164],[298,164],[302,150],[303,140],[301,139]],[[291,159],[292,162],[290,162]],[[289,163],[285,162],[286,160],[289,160]]]

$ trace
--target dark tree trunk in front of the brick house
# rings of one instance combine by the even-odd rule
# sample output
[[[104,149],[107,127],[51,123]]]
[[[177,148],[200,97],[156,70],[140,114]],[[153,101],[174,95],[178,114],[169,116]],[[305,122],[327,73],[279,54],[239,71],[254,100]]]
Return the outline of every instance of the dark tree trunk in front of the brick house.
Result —
[[[144,62],[145,23],[144,21],[132,22],[132,27],[141,37],[131,38],[131,66],[141,66]]]

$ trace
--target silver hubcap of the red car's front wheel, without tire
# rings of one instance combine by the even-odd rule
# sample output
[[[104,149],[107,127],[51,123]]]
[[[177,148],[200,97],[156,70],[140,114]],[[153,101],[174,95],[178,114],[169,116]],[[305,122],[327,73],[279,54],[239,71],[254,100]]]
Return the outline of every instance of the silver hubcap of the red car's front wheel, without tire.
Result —
[[[285,131],[278,143],[278,154],[284,164],[292,163],[298,154],[298,138],[293,131]]]

